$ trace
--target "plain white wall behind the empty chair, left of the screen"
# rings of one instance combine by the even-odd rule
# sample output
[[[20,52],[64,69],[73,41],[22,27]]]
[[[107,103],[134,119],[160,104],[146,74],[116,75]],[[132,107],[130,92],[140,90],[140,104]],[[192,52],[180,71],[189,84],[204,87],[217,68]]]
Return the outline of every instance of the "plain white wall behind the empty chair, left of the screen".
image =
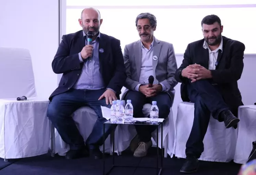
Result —
[[[0,47],[29,49],[40,98],[57,87],[51,62],[58,45],[58,0],[0,0]]]

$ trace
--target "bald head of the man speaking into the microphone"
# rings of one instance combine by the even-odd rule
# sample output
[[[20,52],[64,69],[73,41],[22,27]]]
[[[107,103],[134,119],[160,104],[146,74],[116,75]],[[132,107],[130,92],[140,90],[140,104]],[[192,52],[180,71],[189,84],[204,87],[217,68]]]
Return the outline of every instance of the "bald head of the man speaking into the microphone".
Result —
[[[81,19],[78,21],[85,33],[91,30],[94,35],[98,34],[102,23],[102,19],[100,19],[100,12],[94,8],[85,8],[81,13]]]

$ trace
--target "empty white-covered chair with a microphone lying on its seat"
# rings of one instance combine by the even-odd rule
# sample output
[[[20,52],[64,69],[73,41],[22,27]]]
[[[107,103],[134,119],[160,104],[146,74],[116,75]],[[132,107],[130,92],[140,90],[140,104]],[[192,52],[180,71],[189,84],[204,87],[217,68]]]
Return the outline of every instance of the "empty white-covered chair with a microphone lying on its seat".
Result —
[[[0,48],[0,157],[16,159],[48,152],[48,100],[36,97],[27,49]],[[16,101],[26,96],[27,101]]]

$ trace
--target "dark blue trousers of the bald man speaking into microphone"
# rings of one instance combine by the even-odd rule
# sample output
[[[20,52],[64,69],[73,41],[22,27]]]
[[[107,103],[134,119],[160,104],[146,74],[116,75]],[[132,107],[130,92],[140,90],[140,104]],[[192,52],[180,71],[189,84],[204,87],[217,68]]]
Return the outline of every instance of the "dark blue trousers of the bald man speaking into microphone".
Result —
[[[54,96],[49,103],[47,116],[59,132],[62,140],[69,144],[70,149],[81,149],[85,146],[84,139],[71,117],[71,114],[82,106],[89,106],[98,116],[92,133],[86,140],[86,144],[88,144],[90,149],[95,149],[103,144],[103,123],[107,121],[107,119],[102,117],[100,106],[111,107],[110,104],[106,104],[105,98],[98,100],[104,91],[105,89],[70,89],[65,93]],[[84,123],[84,125],[86,127],[86,123]],[[114,129],[113,126],[110,127],[110,125],[105,127],[105,138],[107,138],[112,129]]]

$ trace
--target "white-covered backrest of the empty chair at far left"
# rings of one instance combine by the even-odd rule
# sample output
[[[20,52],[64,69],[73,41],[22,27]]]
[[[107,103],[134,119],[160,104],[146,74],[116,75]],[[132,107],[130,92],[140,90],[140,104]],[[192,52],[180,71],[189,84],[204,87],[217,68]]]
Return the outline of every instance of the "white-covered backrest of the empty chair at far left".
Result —
[[[0,98],[36,97],[29,51],[0,47]]]

